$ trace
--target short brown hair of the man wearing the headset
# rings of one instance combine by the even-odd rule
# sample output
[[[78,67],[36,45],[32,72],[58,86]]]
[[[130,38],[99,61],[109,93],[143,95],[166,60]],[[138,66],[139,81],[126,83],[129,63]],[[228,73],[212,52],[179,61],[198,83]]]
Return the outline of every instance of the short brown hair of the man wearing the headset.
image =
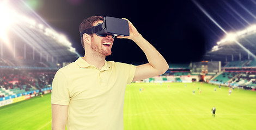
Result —
[[[86,30],[88,28],[92,28],[93,23],[97,22],[97,21],[103,21],[103,17],[101,17],[101,16],[91,16],[91,17],[88,17],[88,18],[84,19],[83,22],[80,24],[80,27],[79,27],[80,33],[83,30]],[[93,34],[89,34],[89,35],[92,36]],[[84,48],[83,37],[81,37],[81,44]]]

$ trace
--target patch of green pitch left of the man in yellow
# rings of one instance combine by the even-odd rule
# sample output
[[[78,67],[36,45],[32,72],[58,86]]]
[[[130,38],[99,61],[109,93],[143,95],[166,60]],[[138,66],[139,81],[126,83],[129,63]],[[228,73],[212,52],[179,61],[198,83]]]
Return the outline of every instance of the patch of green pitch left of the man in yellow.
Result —
[[[0,129],[51,129],[51,95],[0,107]]]

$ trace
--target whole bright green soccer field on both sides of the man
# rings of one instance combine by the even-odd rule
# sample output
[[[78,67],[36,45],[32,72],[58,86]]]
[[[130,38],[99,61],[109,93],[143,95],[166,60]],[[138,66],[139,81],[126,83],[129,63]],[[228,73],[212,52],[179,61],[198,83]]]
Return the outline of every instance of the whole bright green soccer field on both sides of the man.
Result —
[[[126,87],[124,129],[256,129],[255,99],[250,90],[228,95],[228,87],[206,83],[132,83]],[[48,94],[0,107],[0,129],[51,129],[50,100]]]

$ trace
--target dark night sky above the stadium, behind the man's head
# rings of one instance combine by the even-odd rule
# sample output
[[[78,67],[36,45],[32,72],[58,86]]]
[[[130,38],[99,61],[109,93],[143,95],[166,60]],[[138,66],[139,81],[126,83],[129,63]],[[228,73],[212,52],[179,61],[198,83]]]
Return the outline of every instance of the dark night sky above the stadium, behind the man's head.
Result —
[[[207,17],[204,9],[225,31],[245,29],[256,22],[256,2],[248,1],[25,1],[53,29],[65,34],[80,55],[79,25],[94,16],[127,18],[140,34],[160,51],[168,63],[202,61],[206,51],[224,37],[224,32]],[[198,5],[196,5],[197,3]],[[147,59],[135,42],[115,38],[107,61],[144,63]]]

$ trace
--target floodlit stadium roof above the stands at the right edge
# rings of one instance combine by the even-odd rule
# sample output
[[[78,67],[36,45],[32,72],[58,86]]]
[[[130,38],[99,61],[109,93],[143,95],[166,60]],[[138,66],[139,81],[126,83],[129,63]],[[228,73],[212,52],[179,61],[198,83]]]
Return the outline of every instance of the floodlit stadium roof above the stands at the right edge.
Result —
[[[233,34],[227,34],[223,40],[217,42],[217,45],[211,51],[205,54],[204,60],[235,61],[255,59],[255,41],[256,25]]]

